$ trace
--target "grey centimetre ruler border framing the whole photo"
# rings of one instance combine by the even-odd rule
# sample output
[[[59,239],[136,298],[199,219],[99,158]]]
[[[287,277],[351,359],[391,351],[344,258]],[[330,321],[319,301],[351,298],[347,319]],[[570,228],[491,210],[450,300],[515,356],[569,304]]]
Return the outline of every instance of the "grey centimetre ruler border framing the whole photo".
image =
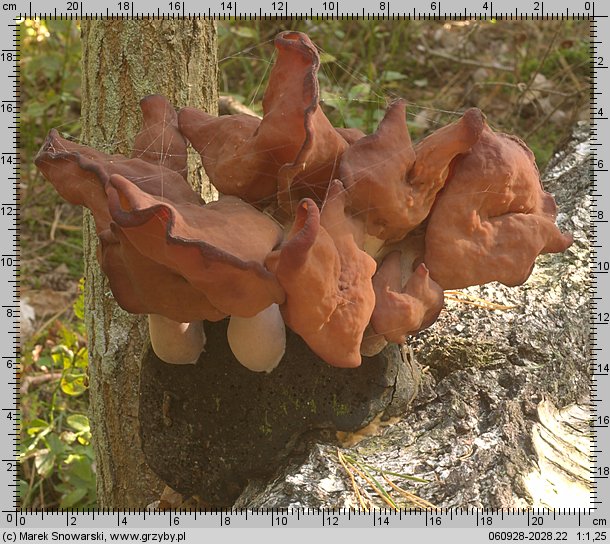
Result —
[[[133,535],[167,535],[166,541],[199,542],[201,532],[210,529],[264,528],[401,528],[415,533],[410,537],[430,538],[430,529],[439,529],[432,538],[446,538],[442,529],[461,529],[459,535],[473,541],[490,540],[568,540],[602,542],[608,539],[610,518],[610,7],[602,2],[575,0],[547,2],[449,0],[418,2],[412,7],[397,0],[210,0],[205,3],[169,0],[64,1],[44,0],[0,2],[0,530],[3,541],[20,541],[28,534],[43,532],[58,536],[100,531],[101,537],[114,532]],[[236,18],[247,22],[256,18],[322,19],[471,19],[483,20],[580,20],[590,24],[590,122],[591,122],[591,501],[581,510],[437,509],[375,511],[291,509],[227,510],[209,512],[31,512],[18,509],[17,454],[19,441],[19,26],[23,18]],[[499,23],[499,24],[500,24]],[[467,533],[464,531],[468,531]],[[421,534],[420,534],[421,533]],[[209,533],[206,532],[206,535]],[[172,538],[171,535],[174,535]],[[93,538],[93,537],[91,537]],[[458,536],[459,538],[459,536]],[[69,538],[63,538],[68,540]],[[135,539],[135,538],[134,538]],[[149,540],[153,540],[149,537]]]

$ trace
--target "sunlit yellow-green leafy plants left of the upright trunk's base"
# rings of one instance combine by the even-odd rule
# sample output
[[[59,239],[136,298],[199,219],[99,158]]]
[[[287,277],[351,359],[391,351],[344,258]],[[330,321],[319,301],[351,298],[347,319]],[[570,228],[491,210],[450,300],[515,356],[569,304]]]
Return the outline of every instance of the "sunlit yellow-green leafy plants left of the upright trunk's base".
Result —
[[[83,312],[81,283],[72,319],[40,331],[21,359],[19,496],[23,508],[96,505]]]

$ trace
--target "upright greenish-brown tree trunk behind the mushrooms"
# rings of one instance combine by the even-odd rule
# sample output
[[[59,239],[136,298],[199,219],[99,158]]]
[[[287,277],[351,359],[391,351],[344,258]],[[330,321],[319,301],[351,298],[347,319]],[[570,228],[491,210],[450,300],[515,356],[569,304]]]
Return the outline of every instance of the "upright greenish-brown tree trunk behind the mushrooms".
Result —
[[[177,108],[215,113],[216,30],[208,20],[83,21],[84,143],[129,155],[141,117],[139,101],[166,96]],[[209,195],[201,168],[191,182]],[[96,260],[93,220],[84,222],[91,423],[98,504],[137,508],[163,487],[146,465],[138,434],[139,361],[148,345],[144,316],[121,310]]]

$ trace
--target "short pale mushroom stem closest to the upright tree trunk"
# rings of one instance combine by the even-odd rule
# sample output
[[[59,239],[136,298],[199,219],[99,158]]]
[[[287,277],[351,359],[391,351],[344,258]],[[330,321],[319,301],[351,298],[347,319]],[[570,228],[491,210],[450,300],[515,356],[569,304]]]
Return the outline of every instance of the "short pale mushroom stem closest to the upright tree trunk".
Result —
[[[205,347],[203,321],[178,323],[162,315],[148,315],[153,351],[165,363],[194,365]]]

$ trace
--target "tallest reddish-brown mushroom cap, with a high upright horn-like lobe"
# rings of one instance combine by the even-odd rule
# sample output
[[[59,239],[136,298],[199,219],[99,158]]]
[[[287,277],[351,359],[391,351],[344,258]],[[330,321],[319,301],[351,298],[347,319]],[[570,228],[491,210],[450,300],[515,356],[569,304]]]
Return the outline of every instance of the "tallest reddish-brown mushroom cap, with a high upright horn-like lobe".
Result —
[[[178,123],[219,192],[261,206],[277,195],[289,208],[302,191],[324,196],[348,144],[318,104],[320,61],[311,40],[300,32],[282,32],[275,47],[262,120],[184,108]]]

